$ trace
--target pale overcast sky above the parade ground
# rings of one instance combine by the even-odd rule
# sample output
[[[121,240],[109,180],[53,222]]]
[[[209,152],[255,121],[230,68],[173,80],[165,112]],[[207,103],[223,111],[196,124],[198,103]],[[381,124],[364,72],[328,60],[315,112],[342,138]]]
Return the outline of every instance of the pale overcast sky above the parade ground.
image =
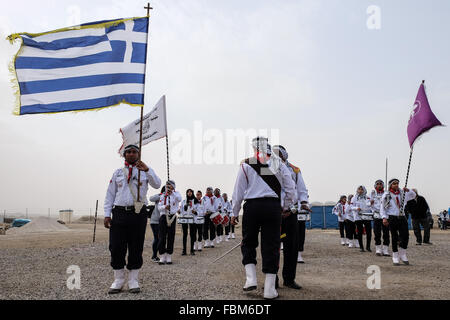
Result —
[[[1,37],[143,16],[144,5],[26,0],[11,9],[3,1]],[[367,26],[371,5],[380,9],[379,29]],[[434,113],[449,123],[447,0],[155,0],[152,6],[145,110],[166,95],[172,147],[180,147],[172,139],[180,132],[212,147],[208,135],[195,134],[195,123],[219,135],[273,129],[301,168],[311,201],[337,201],[384,179],[386,157],[388,177],[403,185],[406,126],[423,79]],[[139,108],[14,116],[7,65],[18,44],[1,40],[0,49],[0,210],[81,211],[97,199],[102,208],[112,173],[123,164],[118,130],[138,118]],[[449,142],[450,131],[440,127],[414,149],[409,186],[433,213],[450,206]],[[170,175],[183,195],[213,186],[231,196],[238,159],[247,156],[237,154],[233,164],[175,161]],[[145,146],[143,160],[166,179],[164,140]]]

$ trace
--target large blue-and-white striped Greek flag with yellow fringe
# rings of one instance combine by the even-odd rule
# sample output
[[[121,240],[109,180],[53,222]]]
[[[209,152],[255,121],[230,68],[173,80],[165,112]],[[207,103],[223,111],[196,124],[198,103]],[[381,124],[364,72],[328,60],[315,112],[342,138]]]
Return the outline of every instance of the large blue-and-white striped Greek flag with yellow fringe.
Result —
[[[148,17],[10,35],[22,40],[11,70],[18,82],[14,114],[142,106],[147,34]]]

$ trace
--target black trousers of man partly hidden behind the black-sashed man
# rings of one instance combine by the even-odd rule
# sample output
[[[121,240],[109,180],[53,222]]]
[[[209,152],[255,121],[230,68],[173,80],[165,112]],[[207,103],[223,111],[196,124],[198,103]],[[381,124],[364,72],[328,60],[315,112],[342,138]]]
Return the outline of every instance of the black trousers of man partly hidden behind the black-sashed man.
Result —
[[[281,218],[281,234],[286,234],[286,236],[281,239],[283,242],[284,258],[282,274],[285,282],[292,282],[295,280],[299,243],[298,230],[299,227],[296,214],[290,214],[286,218]]]

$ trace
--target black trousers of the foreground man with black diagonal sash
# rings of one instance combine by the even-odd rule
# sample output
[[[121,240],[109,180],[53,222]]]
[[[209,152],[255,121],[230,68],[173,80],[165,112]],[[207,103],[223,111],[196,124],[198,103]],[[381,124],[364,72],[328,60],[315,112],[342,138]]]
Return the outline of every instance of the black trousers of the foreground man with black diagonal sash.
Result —
[[[280,262],[281,205],[276,198],[247,200],[242,216],[242,264],[256,264],[261,230],[262,272],[276,274]]]

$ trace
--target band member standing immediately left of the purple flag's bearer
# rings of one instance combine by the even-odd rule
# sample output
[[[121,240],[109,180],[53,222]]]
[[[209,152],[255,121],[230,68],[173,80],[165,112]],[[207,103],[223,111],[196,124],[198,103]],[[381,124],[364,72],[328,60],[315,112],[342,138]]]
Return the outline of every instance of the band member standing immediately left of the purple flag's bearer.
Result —
[[[375,253],[377,256],[389,257],[389,227],[383,224],[380,215],[381,198],[384,194],[383,180],[375,181],[374,190],[370,195],[370,205],[373,212],[373,234],[375,235]],[[383,232],[383,245],[381,245],[381,233]]]

